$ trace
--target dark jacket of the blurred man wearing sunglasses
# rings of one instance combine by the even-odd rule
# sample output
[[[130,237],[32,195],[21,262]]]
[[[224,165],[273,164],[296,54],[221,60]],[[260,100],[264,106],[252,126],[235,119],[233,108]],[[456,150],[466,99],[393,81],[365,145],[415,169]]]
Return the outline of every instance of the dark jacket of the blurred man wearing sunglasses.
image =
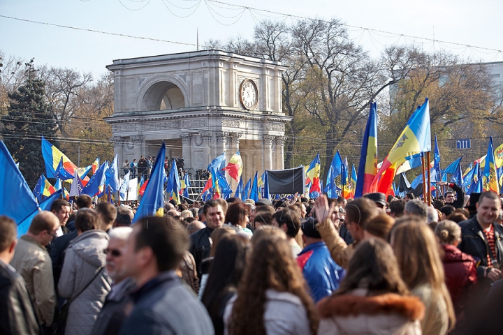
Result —
[[[126,305],[131,301],[129,291],[133,290],[136,284],[131,278],[124,279],[124,283],[117,292],[108,293],[103,308],[96,319],[91,334],[93,335],[116,335],[119,334],[120,327],[126,320]],[[113,293],[112,293],[113,292]]]

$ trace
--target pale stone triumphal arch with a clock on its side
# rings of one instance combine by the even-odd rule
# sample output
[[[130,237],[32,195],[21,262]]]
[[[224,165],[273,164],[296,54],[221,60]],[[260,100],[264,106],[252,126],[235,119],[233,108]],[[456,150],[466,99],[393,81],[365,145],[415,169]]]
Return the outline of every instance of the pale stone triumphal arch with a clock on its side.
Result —
[[[115,80],[112,141],[119,161],[155,156],[186,170],[227,162],[239,149],[245,181],[258,171],[284,168],[282,72],[277,61],[205,50],[119,59],[107,66]]]

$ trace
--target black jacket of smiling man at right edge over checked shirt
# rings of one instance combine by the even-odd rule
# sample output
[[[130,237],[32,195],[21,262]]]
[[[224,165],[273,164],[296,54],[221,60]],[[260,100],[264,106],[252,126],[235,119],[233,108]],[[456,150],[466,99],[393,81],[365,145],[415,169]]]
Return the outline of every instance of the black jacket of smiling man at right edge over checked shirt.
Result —
[[[476,262],[480,261],[479,266],[476,268],[477,277],[484,278],[484,271],[486,271],[486,267],[488,266],[487,256],[489,246],[482,228],[476,220],[476,216],[461,221],[459,225],[461,227],[461,243],[458,247],[463,253],[472,255]],[[503,228],[501,225],[495,223],[493,225],[495,229],[497,268],[501,269],[503,265]]]

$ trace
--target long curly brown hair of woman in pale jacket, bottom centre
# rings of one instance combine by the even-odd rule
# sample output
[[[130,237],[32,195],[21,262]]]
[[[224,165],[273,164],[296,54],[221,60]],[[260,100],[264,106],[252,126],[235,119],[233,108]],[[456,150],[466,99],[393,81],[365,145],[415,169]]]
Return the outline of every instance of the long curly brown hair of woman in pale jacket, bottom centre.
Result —
[[[229,334],[265,334],[263,322],[268,289],[290,292],[302,301],[312,334],[318,329],[318,316],[307,283],[291,253],[291,247],[281,237],[264,236],[254,247],[251,259],[238,286],[231,318]]]

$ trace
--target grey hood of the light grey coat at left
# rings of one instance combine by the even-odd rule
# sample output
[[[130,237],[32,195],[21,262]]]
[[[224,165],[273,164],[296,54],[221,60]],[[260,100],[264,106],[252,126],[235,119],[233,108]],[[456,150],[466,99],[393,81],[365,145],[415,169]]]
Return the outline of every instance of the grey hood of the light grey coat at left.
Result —
[[[73,248],[77,255],[95,267],[103,267],[106,262],[104,251],[109,239],[103,230],[87,230],[71,241],[68,248]]]

